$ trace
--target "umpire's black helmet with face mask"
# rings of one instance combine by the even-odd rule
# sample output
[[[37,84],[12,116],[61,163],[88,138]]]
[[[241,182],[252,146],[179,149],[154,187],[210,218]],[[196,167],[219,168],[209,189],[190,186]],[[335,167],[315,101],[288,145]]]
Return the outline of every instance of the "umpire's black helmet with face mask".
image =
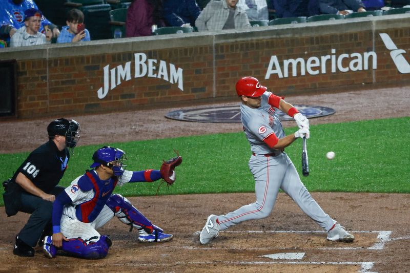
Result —
[[[59,118],[50,122],[47,132],[50,139],[55,135],[65,136],[66,146],[72,150],[80,139],[81,127],[74,119]]]

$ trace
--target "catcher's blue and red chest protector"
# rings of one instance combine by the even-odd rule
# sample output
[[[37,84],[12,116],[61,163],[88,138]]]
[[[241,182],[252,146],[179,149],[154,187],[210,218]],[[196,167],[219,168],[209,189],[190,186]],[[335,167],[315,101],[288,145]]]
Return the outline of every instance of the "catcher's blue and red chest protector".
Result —
[[[97,218],[104,205],[107,203],[108,198],[110,198],[115,186],[117,185],[118,179],[110,178],[107,181],[100,180],[98,175],[94,172],[87,171],[83,179],[88,181],[83,181],[81,183],[80,189],[82,191],[94,191],[94,197],[82,204],[76,205],[75,216],[78,220],[84,223],[90,223]]]

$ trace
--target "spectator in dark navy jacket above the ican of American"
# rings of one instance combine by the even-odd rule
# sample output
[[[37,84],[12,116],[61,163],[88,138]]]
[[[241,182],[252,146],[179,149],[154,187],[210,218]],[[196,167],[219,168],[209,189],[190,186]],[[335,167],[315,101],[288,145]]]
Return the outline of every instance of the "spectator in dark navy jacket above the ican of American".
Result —
[[[353,12],[364,12],[361,0],[319,0],[320,12],[325,14],[347,15]]]

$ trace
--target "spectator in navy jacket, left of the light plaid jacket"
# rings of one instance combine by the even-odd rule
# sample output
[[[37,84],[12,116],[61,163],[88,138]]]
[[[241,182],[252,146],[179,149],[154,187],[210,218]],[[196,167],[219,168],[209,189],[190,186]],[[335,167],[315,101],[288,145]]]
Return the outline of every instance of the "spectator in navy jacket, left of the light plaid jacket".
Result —
[[[195,0],[163,0],[165,24],[171,27],[194,27],[201,10]]]

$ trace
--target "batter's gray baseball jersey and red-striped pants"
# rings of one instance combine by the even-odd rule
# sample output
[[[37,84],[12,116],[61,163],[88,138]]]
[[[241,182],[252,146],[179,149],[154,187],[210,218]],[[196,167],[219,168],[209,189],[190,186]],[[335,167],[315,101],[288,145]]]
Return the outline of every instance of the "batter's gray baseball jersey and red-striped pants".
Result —
[[[251,144],[252,156],[249,160],[249,167],[255,179],[256,202],[244,205],[226,215],[218,216],[220,230],[243,221],[268,217],[275,205],[279,188],[326,231],[336,223],[323,212],[306,190],[288,155],[270,148],[263,141],[272,134],[279,139],[285,136],[275,109],[279,108],[279,100],[280,97],[266,91],[262,95],[259,108],[250,108],[241,104],[241,121],[245,135]]]

